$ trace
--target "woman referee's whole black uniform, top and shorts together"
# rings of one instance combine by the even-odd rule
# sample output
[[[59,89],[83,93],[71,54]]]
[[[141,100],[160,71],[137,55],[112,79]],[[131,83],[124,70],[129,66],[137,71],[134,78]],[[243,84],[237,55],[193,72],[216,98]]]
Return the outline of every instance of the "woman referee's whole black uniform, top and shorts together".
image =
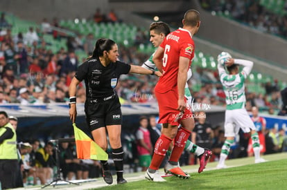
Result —
[[[121,124],[121,104],[114,88],[122,74],[128,74],[130,65],[121,61],[103,66],[91,58],[78,67],[75,75],[79,81],[85,80],[85,113],[89,129],[94,131],[107,125]]]

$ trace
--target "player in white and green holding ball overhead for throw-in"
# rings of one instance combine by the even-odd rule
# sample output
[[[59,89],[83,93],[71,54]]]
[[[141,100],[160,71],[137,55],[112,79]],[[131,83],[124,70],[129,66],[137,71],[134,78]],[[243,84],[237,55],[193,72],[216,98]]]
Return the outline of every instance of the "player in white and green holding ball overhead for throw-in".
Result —
[[[226,66],[229,74],[226,73]],[[243,66],[243,70],[239,72],[239,66]],[[264,162],[260,158],[260,144],[258,133],[254,123],[250,119],[245,110],[245,86],[244,82],[247,75],[252,70],[253,62],[244,59],[232,59],[229,53],[220,53],[218,55],[218,74],[220,82],[226,95],[226,111],[225,111],[225,137],[220,153],[218,169],[225,168],[225,159],[229,154],[230,146],[234,143],[234,137],[241,128],[244,133],[249,133],[251,129],[252,146],[254,149],[255,163]]]

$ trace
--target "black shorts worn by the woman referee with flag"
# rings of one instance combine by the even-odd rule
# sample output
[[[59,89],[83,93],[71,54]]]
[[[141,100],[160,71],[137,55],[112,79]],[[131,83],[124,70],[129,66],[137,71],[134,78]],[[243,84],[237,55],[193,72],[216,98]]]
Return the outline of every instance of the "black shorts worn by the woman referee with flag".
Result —
[[[122,120],[121,104],[117,95],[112,99],[98,103],[91,103],[87,100],[85,113],[87,125],[91,131],[107,125],[119,125]]]

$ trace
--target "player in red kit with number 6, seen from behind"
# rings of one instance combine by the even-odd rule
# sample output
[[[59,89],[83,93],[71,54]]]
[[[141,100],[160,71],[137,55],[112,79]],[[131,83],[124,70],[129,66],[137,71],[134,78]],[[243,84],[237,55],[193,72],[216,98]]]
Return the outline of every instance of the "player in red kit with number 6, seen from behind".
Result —
[[[200,27],[199,12],[188,10],[184,14],[182,23],[183,28],[167,35],[153,57],[155,65],[163,73],[155,87],[155,95],[159,104],[159,123],[163,124],[163,128],[162,135],[155,144],[153,159],[145,177],[156,182],[165,181],[159,175],[158,169],[173,139],[175,139],[175,143],[166,165],[166,171],[178,177],[190,177],[180,169],[177,162],[194,127],[192,113],[184,97],[184,88],[187,71],[194,55],[192,37]],[[182,124],[182,127],[177,130],[179,124]],[[202,159],[200,160],[207,163],[210,155],[211,151],[202,149]],[[202,165],[200,171],[204,169],[205,165]]]

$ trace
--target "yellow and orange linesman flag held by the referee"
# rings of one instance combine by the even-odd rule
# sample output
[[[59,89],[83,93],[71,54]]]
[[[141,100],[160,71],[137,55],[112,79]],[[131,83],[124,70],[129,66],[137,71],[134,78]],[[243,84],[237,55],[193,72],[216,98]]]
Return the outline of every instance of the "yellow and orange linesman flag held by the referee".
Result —
[[[86,133],[78,129],[75,123],[73,123],[73,133],[75,133],[77,157],[79,159],[107,160],[107,153]]]

